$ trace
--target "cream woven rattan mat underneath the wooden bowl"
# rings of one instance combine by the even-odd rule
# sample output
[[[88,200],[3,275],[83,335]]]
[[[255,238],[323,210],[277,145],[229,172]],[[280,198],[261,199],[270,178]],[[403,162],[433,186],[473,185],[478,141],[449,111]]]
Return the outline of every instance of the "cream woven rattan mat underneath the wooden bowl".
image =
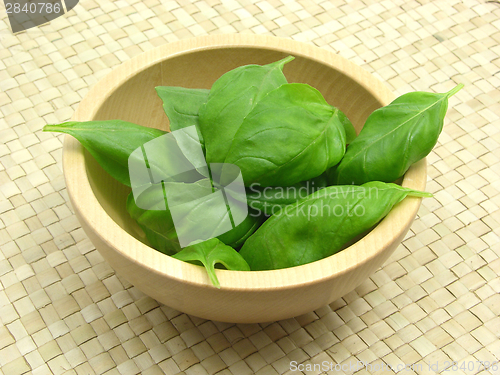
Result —
[[[0,373],[500,374],[500,3],[82,0],[16,35],[1,12]],[[68,204],[62,136],[41,132],[121,62],[235,32],[335,51],[398,95],[465,83],[403,244],[344,298],[270,324],[191,317],[115,275]]]

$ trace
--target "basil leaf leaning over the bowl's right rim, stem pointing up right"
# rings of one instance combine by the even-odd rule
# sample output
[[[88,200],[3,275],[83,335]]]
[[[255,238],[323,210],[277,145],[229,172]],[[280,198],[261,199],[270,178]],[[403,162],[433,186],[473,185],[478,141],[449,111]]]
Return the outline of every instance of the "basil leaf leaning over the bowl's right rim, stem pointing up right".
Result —
[[[448,99],[462,87],[444,94],[411,92],[375,110],[333,171],[332,182],[361,185],[403,176],[436,145]]]

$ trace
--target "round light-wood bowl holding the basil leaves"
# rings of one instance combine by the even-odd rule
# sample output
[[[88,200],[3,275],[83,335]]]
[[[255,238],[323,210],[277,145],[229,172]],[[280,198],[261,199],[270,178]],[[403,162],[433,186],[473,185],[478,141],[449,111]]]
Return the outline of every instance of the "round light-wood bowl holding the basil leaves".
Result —
[[[75,121],[122,119],[168,129],[155,86],[210,88],[225,72],[285,56],[289,82],[317,88],[359,131],[368,115],[393,94],[357,65],[324,49],[257,35],[203,36],[147,51],[114,69],[80,103]],[[412,224],[419,198],[406,198],[369,234],[345,250],[300,267],[274,271],[217,270],[221,289],[204,268],[147,246],[125,210],[129,192],[74,138],[64,142],[68,194],[91,241],[116,270],[145,294],[179,311],[224,322],[269,322],[298,316],[342,297],[377,270]],[[426,162],[406,173],[403,185],[424,190]]]

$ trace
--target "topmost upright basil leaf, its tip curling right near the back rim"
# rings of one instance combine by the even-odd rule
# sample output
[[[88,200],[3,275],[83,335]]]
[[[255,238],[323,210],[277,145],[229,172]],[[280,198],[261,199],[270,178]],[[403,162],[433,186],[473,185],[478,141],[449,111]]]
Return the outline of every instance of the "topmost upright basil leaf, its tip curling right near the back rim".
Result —
[[[207,163],[223,163],[245,116],[268,92],[286,83],[288,56],[268,65],[245,65],[222,75],[199,112]]]

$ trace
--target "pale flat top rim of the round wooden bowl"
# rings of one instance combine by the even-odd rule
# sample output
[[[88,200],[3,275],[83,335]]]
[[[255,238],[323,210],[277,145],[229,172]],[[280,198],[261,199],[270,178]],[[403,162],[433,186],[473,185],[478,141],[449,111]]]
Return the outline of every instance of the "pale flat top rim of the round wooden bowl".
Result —
[[[347,75],[377,98],[382,105],[387,105],[394,99],[392,92],[380,80],[353,62],[326,49],[274,36],[222,34],[168,43],[122,63],[89,90],[80,102],[72,120],[89,121],[93,119],[101,105],[115,90],[133,75],[153,65],[172,57],[217,48],[263,48],[315,60]],[[172,281],[201,288],[213,288],[204,268],[166,256],[145,245],[125,231],[107,214],[90,185],[86,173],[84,148],[69,135],[64,137],[63,168],[68,195],[77,216],[108,246],[152,273]],[[425,184],[426,160],[422,159],[410,167],[405,174],[402,185],[424,190]],[[407,197],[396,205],[365,237],[327,258],[278,270],[230,271],[218,269],[216,272],[221,290],[261,292],[263,290],[293,289],[321,283],[346,274],[380,255],[380,252],[390,246],[395,238],[404,236],[405,231],[416,217],[420,200],[421,198]],[[396,226],[395,222],[398,223]],[[82,225],[82,227],[85,226]],[[377,241],[378,251],[370,246],[372,241]],[[349,259],[356,261],[349,262]]]

